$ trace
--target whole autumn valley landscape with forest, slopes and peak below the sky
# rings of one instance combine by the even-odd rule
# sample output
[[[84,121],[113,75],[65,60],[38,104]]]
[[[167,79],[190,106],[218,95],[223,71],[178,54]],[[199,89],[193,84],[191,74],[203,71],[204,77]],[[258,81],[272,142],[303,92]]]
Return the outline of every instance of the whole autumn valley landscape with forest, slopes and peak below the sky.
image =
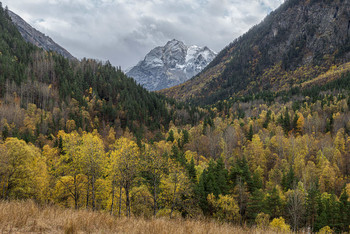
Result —
[[[349,232],[349,6],[288,0],[217,55],[172,40],[127,74],[1,6],[0,230]],[[147,84],[157,62],[189,80]]]

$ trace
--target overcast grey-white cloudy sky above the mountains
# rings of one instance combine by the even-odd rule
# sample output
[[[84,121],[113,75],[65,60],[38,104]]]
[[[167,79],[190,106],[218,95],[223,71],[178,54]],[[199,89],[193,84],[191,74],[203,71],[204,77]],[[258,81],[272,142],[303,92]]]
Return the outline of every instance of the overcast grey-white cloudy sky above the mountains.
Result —
[[[77,58],[122,69],[178,39],[219,52],[284,0],[0,0]]]

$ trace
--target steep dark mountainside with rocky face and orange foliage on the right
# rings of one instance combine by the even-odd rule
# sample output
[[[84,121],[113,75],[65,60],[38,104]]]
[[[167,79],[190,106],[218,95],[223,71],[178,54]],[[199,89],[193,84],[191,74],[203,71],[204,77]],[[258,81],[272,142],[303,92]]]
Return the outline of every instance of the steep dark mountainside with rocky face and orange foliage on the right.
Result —
[[[203,72],[161,93],[215,103],[281,91],[350,60],[348,1],[288,0],[223,49]]]

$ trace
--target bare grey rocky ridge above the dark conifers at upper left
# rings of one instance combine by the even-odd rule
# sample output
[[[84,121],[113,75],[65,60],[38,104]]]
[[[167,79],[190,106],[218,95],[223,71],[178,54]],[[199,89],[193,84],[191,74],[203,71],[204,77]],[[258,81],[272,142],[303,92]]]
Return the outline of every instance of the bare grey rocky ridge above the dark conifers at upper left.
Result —
[[[21,33],[22,37],[27,42],[43,48],[46,51],[55,51],[68,59],[75,59],[75,57],[73,57],[67,50],[54,42],[50,37],[45,36],[43,33],[30,26],[18,15],[12,11],[9,11],[9,15],[12,19],[12,22],[17,26],[18,31]]]

